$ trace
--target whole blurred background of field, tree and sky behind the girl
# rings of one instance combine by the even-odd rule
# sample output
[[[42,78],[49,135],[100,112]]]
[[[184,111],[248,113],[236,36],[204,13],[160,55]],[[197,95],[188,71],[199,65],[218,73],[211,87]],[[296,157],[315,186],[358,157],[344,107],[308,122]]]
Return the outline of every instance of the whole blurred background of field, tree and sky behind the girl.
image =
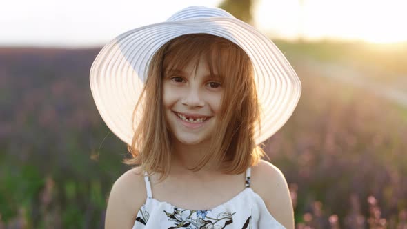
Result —
[[[99,116],[103,45],[192,5],[267,34],[303,91],[264,148],[296,228],[407,228],[403,0],[5,1],[0,14],[0,229],[103,228],[127,149]]]

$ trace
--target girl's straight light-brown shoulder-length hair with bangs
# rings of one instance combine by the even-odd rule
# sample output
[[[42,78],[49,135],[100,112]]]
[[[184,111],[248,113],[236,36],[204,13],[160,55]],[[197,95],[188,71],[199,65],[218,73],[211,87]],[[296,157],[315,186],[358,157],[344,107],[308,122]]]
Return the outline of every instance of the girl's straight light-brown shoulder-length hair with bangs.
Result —
[[[213,76],[217,72],[224,87],[217,131],[210,149],[192,168],[200,170],[208,161],[221,172],[239,174],[258,163],[264,151],[256,146],[255,125],[259,125],[259,103],[250,58],[239,46],[210,34],[186,34],[168,41],[150,60],[148,77],[141,98],[144,112],[128,150],[132,158],[124,163],[142,166],[152,174],[168,175],[171,163],[171,135],[163,110],[163,74],[168,69],[182,70],[191,61],[205,57]],[[197,63],[196,62],[196,63]],[[143,104],[139,104],[143,101]]]

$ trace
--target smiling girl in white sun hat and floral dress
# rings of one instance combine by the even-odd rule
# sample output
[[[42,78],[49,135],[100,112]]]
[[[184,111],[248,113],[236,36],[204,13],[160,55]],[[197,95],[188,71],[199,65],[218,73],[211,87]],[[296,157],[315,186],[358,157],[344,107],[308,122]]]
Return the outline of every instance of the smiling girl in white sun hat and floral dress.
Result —
[[[135,167],[112,187],[106,228],[294,228],[281,171],[259,144],[301,83],[275,45],[218,8],[185,8],[121,34],[90,86]]]

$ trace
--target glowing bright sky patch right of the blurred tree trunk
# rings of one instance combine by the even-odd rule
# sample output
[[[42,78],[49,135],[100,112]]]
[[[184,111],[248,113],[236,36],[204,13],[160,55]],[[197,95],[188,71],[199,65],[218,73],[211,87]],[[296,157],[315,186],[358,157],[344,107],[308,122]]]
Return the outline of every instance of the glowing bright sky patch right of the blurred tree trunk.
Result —
[[[407,41],[406,5],[398,0],[261,0],[255,20],[273,37],[397,43]]]

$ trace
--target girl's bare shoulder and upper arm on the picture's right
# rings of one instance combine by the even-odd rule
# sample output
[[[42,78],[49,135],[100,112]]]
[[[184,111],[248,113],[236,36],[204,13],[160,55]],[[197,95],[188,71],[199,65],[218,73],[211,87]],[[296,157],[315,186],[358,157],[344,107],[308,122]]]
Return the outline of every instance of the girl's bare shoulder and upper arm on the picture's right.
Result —
[[[252,166],[252,189],[264,200],[272,217],[286,228],[294,228],[294,212],[286,178],[279,168],[261,160]]]

